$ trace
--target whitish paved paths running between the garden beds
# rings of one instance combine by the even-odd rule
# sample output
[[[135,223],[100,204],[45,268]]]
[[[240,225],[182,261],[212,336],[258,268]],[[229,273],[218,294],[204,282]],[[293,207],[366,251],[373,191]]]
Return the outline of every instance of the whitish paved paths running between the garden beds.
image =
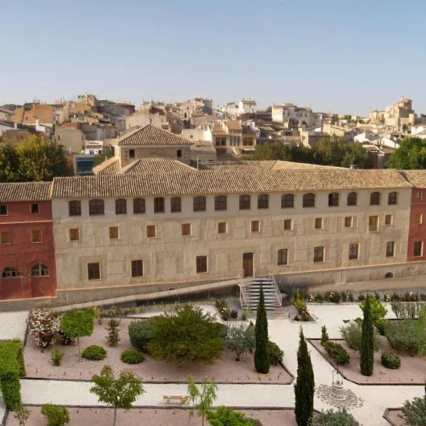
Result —
[[[386,305],[386,304],[385,304]],[[393,318],[390,306],[388,318]],[[302,324],[305,337],[319,338],[321,327],[325,325],[330,339],[340,338],[339,327],[343,320],[361,317],[362,313],[357,303],[354,304],[321,304],[308,305],[315,323],[291,322],[287,317],[276,318],[268,321],[271,339],[283,349],[284,364],[288,370],[297,374],[296,351],[299,343],[299,330]],[[212,312],[212,307],[205,307]],[[0,313],[0,322],[9,324],[2,330],[3,338],[21,337],[25,332],[26,312],[13,314]],[[13,335],[13,333],[16,333]],[[309,344],[312,364],[315,372],[315,408],[326,410],[335,408],[330,405],[328,398],[329,386],[332,383],[332,366],[321,354]],[[95,371],[94,371],[95,373]],[[58,403],[62,405],[101,405],[97,398],[89,393],[91,384],[84,381],[40,381],[33,379],[21,379],[22,398],[24,404]],[[136,400],[140,406],[163,406],[164,394],[186,393],[185,384],[177,383],[147,383],[146,394]],[[228,405],[239,408],[260,407],[294,407],[293,384],[223,384],[219,385],[218,398],[215,405]],[[404,400],[412,399],[424,393],[423,386],[360,386],[344,380],[344,388],[349,395],[351,413],[362,425],[385,426],[389,423],[383,418],[386,408],[399,408]],[[0,408],[0,419],[2,412]]]

